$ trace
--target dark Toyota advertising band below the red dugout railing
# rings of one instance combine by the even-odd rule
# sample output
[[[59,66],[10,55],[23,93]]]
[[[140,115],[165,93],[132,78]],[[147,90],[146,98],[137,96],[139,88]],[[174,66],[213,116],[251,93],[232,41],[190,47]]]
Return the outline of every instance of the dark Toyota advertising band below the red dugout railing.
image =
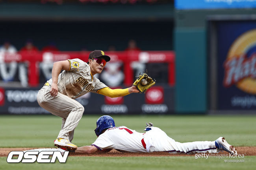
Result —
[[[37,103],[39,88],[0,88],[0,114],[50,114]],[[84,114],[170,114],[174,113],[174,88],[155,86],[145,94],[132,93],[110,98],[87,93],[75,99]]]

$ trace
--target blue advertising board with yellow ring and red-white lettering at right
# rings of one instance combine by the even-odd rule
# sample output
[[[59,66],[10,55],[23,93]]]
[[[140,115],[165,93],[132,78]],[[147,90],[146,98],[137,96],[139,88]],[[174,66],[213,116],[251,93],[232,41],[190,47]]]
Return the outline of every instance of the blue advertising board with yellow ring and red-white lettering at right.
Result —
[[[219,22],[218,108],[256,109],[256,23]]]

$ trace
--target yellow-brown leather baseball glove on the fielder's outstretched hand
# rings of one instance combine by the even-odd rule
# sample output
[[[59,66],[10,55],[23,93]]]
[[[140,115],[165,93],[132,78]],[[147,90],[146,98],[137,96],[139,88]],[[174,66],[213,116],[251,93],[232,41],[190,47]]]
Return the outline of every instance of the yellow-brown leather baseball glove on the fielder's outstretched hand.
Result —
[[[142,79],[147,80],[147,84],[142,85]],[[151,77],[149,77],[147,73],[143,73],[142,75],[140,74],[139,77],[137,77],[133,85],[137,87],[139,93],[145,93],[145,91],[147,91],[154,84],[156,84],[156,80],[153,80]]]

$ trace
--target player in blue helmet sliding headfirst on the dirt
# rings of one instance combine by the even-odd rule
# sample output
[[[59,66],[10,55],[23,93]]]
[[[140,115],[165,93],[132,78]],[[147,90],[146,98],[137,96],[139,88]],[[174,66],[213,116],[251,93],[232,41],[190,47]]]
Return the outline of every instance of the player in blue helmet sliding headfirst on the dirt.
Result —
[[[179,143],[167,136],[160,128],[147,124],[145,133],[139,133],[126,126],[115,127],[112,117],[104,115],[96,122],[95,133],[98,136],[90,146],[79,147],[75,153],[91,154],[98,150],[121,150],[128,152],[170,152],[170,153],[218,153],[220,150],[237,154],[234,146],[226,142],[224,137],[216,141],[197,141]]]

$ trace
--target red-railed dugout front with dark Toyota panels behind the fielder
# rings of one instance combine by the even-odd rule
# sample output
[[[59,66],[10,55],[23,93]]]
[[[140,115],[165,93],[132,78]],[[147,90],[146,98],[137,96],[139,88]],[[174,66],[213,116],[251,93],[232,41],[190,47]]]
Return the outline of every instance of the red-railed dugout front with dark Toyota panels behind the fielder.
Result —
[[[48,114],[37,104],[37,91],[52,77],[53,63],[80,58],[87,62],[90,51],[20,52],[0,54],[0,114]],[[112,89],[132,86],[135,76],[148,72],[156,85],[146,94],[110,98],[88,93],[78,99],[85,114],[174,113],[173,51],[105,51],[111,57],[95,77]],[[129,58],[129,59],[128,59]],[[22,88],[23,86],[23,88]]]

